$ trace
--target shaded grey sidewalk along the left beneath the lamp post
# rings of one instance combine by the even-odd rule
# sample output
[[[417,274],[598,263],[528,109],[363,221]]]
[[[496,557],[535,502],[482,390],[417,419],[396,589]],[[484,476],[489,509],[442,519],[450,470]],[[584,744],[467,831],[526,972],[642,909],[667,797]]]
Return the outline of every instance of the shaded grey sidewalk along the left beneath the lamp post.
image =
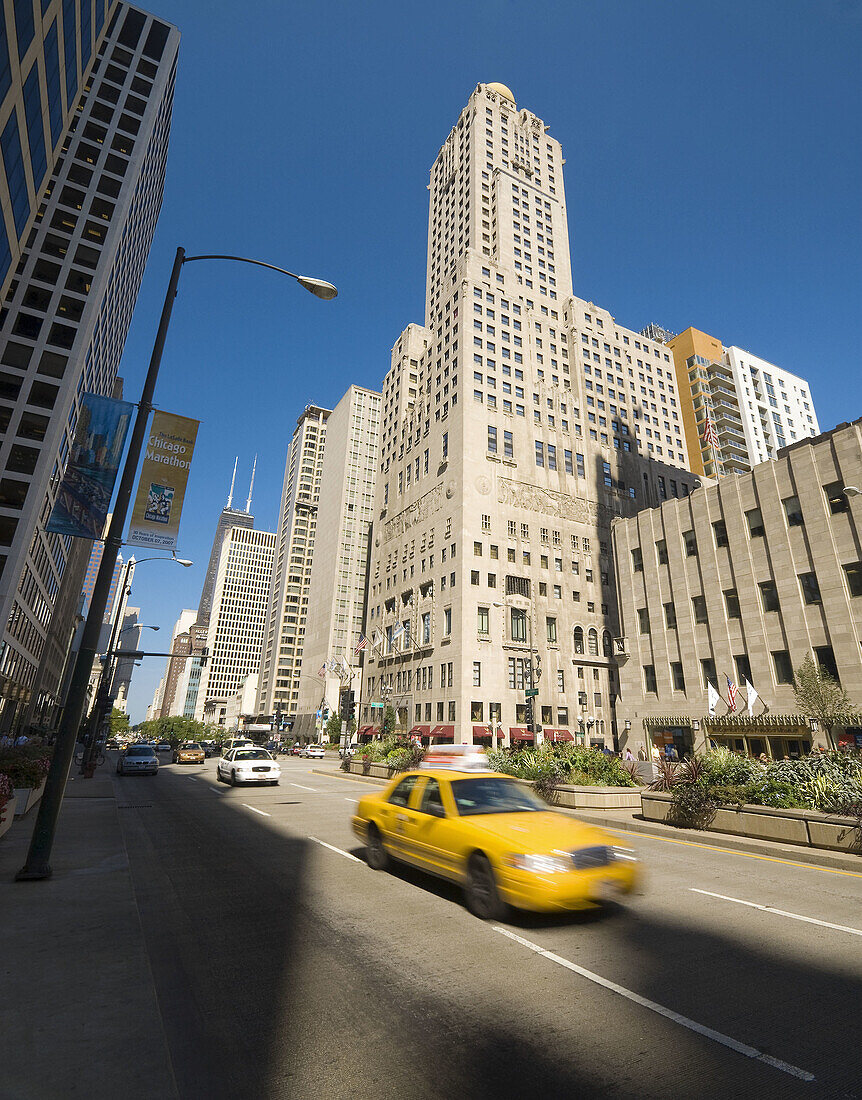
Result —
[[[0,1100],[176,1098],[110,776],[70,779],[52,878],[15,882],[35,817],[0,840]]]

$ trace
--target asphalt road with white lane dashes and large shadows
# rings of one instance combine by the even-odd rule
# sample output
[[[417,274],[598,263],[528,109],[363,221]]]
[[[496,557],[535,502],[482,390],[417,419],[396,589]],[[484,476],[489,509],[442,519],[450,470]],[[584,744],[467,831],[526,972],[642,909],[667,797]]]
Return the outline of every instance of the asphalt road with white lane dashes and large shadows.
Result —
[[[184,1100],[862,1098],[859,873],[629,836],[623,905],[488,924],[316,767],[115,779]]]

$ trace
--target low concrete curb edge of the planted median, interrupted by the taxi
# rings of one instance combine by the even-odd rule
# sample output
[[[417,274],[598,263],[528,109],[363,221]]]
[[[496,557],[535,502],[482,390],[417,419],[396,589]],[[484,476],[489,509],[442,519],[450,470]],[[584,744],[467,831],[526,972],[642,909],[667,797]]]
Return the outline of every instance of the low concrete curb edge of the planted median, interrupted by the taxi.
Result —
[[[329,763],[329,761],[324,761]],[[352,776],[341,771],[338,763],[328,768],[314,768],[322,776],[339,776],[344,780],[372,783],[384,787],[385,779],[373,779],[371,776]],[[745,851],[750,855],[770,856],[773,859],[787,859],[794,864],[809,864],[817,867],[833,867],[840,870],[855,871],[862,875],[862,856],[828,851],[824,848],[803,848],[802,845],[778,844],[776,840],[758,840],[753,837],[732,836],[728,833],[715,833],[709,829],[685,829],[674,825],[663,825],[661,822],[644,821],[639,810],[568,810],[555,807],[561,814],[570,814],[578,821],[590,825],[600,825],[608,829],[625,829],[627,833],[641,833],[645,836],[662,837],[671,843],[699,844],[709,848],[727,848],[730,851]],[[636,842],[637,844],[637,842]]]

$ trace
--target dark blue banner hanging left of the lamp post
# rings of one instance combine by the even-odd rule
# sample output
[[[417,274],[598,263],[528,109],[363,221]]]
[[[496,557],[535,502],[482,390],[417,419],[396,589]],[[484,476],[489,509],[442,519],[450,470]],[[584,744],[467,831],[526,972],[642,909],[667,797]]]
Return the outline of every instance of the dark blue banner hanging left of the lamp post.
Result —
[[[134,405],[81,394],[75,441],[45,530],[101,539]]]

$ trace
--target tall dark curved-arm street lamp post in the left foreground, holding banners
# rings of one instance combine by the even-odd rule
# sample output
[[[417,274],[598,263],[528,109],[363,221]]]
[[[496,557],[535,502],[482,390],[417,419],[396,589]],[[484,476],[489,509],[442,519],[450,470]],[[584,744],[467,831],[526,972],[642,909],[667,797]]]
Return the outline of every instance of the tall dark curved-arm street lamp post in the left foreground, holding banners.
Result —
[[[150,358],[150,366],[147,367],[144,386],[141,392],[141,400],[137,406],[134,428],[132,429],[132,438],[129,442],[129,452],[125,457],[123,473],[120,479],[119,488],[117,490],[111,524],[104,539],[102,559],[90,597],[90,610],[84,626],[81,645],[69,682],[63,718],[57,729],[54,757],[45,779],[45,790],[38,804],[26,862],[15,876],[18,881],[34,881],[51,877],[51,849],[54,846],[57,817],[59,816],[59,809],[66,790],[66,780],[68,779],[71,758],[75,755],[78,727],[87,702],[87,685],[90,679],[92,662],[98,651],[99,635],[101,634],[104,608],[108,605],[108,595],[111,588],[114,565],[117,564],[117,556],[123,543],[123,528],[125,527],[129,504],[132,498],[132,490],[134,488],[137,463],[143,450],[150,414],[154,407],[153,396],[155,394],[156,381],[158,380],[158,369],[162,364],[162,353],[165,349],[167,330],[170,323],[170,314],[174,309],[174,299],[177,296],[177,287],[179,286],[179,275],[184,264],[196,260],[233,260],[239,263],[254,264],[258,267],[268,267],[270,271],[280,272],[280,274],[296,279],[309,294],[313,294],[316,297],[324,300],[334,298],[338,294],[338,290],[331,283],[327,283],[323,279],[310,278],[307,275],[296,275],[284,267],[265,264],[259,260],[250,260],[247,256],[228,255],[187,256],[185,249],[177,249],[177,254],[174,257],[174,266],[170,271],[170,278],[168,279],[165,304],[162,307],[155,343],[153,344],[153,353]]]

